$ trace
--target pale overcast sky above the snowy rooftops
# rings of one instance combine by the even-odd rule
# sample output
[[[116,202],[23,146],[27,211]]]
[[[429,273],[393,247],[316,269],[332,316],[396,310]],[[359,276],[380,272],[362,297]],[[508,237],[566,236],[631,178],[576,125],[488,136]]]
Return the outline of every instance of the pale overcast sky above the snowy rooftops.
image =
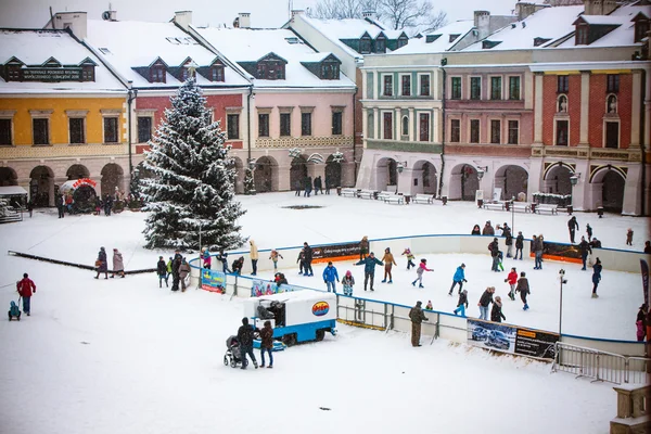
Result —
[[[314,7],[318,0],[293,0],[293,9]],[[448,14],[448,22],[470,20],[474,10],[489,8],[495,15],[510,14],[516,0],[433,0],[436,9]],[[229,26],[239,12],[251,13],[252,27],[278,27],[289,20],[289,0],[0,0],[0,27],[39,28],[54,12],[86,11],[88,17],[100,20],[112,8],[118,20],[167,21],[178,10],[193,11],[193,24]],[[487,4],[490,4],[488,7]]]

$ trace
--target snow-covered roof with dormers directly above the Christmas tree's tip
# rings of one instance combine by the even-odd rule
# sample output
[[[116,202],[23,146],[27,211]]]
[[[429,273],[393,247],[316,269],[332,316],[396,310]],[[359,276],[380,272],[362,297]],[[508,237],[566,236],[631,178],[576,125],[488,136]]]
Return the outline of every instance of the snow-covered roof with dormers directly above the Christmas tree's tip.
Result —
[[[120,76],[133,81],[135,88],[177,88],[181,85],[169,72],[166,82],[149,82],[135,69],[148,67],[157,59],[169,67],[182,66],[188,58],[202,67],[212,65],[218,59],[174,23],[89,20],[86,40]],[[197,74],[196,82],[203,88],[248,85],[241,74],[228,65],[224,76],[225,81],[210,81]]]

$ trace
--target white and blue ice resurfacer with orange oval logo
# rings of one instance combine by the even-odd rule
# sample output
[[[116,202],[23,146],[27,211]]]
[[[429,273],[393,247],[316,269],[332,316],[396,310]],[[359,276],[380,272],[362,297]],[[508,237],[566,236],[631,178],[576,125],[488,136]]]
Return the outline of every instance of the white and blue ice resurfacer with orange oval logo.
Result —
[[[273,337],[286,345],[322,341],[326,332],[336,334],[336,294],[303,290],[252,297],[244,301],[244,316],[258,329],[271,321]]]

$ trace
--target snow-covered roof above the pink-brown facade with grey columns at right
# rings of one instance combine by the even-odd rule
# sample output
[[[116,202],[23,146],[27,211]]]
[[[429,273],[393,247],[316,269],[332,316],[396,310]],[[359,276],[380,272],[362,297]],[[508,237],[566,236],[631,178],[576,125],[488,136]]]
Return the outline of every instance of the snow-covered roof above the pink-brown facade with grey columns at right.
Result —
[[[484,41],[493,46],[492,51],[541,49],[546,43],[573,33],[574,25],[572,23],[583,11],[583,5],[545,8],[461,51],[485,51]],[[544,42],[536,46],[536,38],[540,38],[538,41]]]

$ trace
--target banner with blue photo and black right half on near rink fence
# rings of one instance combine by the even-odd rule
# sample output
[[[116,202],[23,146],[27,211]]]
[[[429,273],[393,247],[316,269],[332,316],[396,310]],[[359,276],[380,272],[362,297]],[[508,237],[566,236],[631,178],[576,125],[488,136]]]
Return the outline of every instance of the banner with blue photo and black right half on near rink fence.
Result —
[[[558,340],[557,333],[480,319],[468,320],[468,344],[484,349],[553,359]]]

